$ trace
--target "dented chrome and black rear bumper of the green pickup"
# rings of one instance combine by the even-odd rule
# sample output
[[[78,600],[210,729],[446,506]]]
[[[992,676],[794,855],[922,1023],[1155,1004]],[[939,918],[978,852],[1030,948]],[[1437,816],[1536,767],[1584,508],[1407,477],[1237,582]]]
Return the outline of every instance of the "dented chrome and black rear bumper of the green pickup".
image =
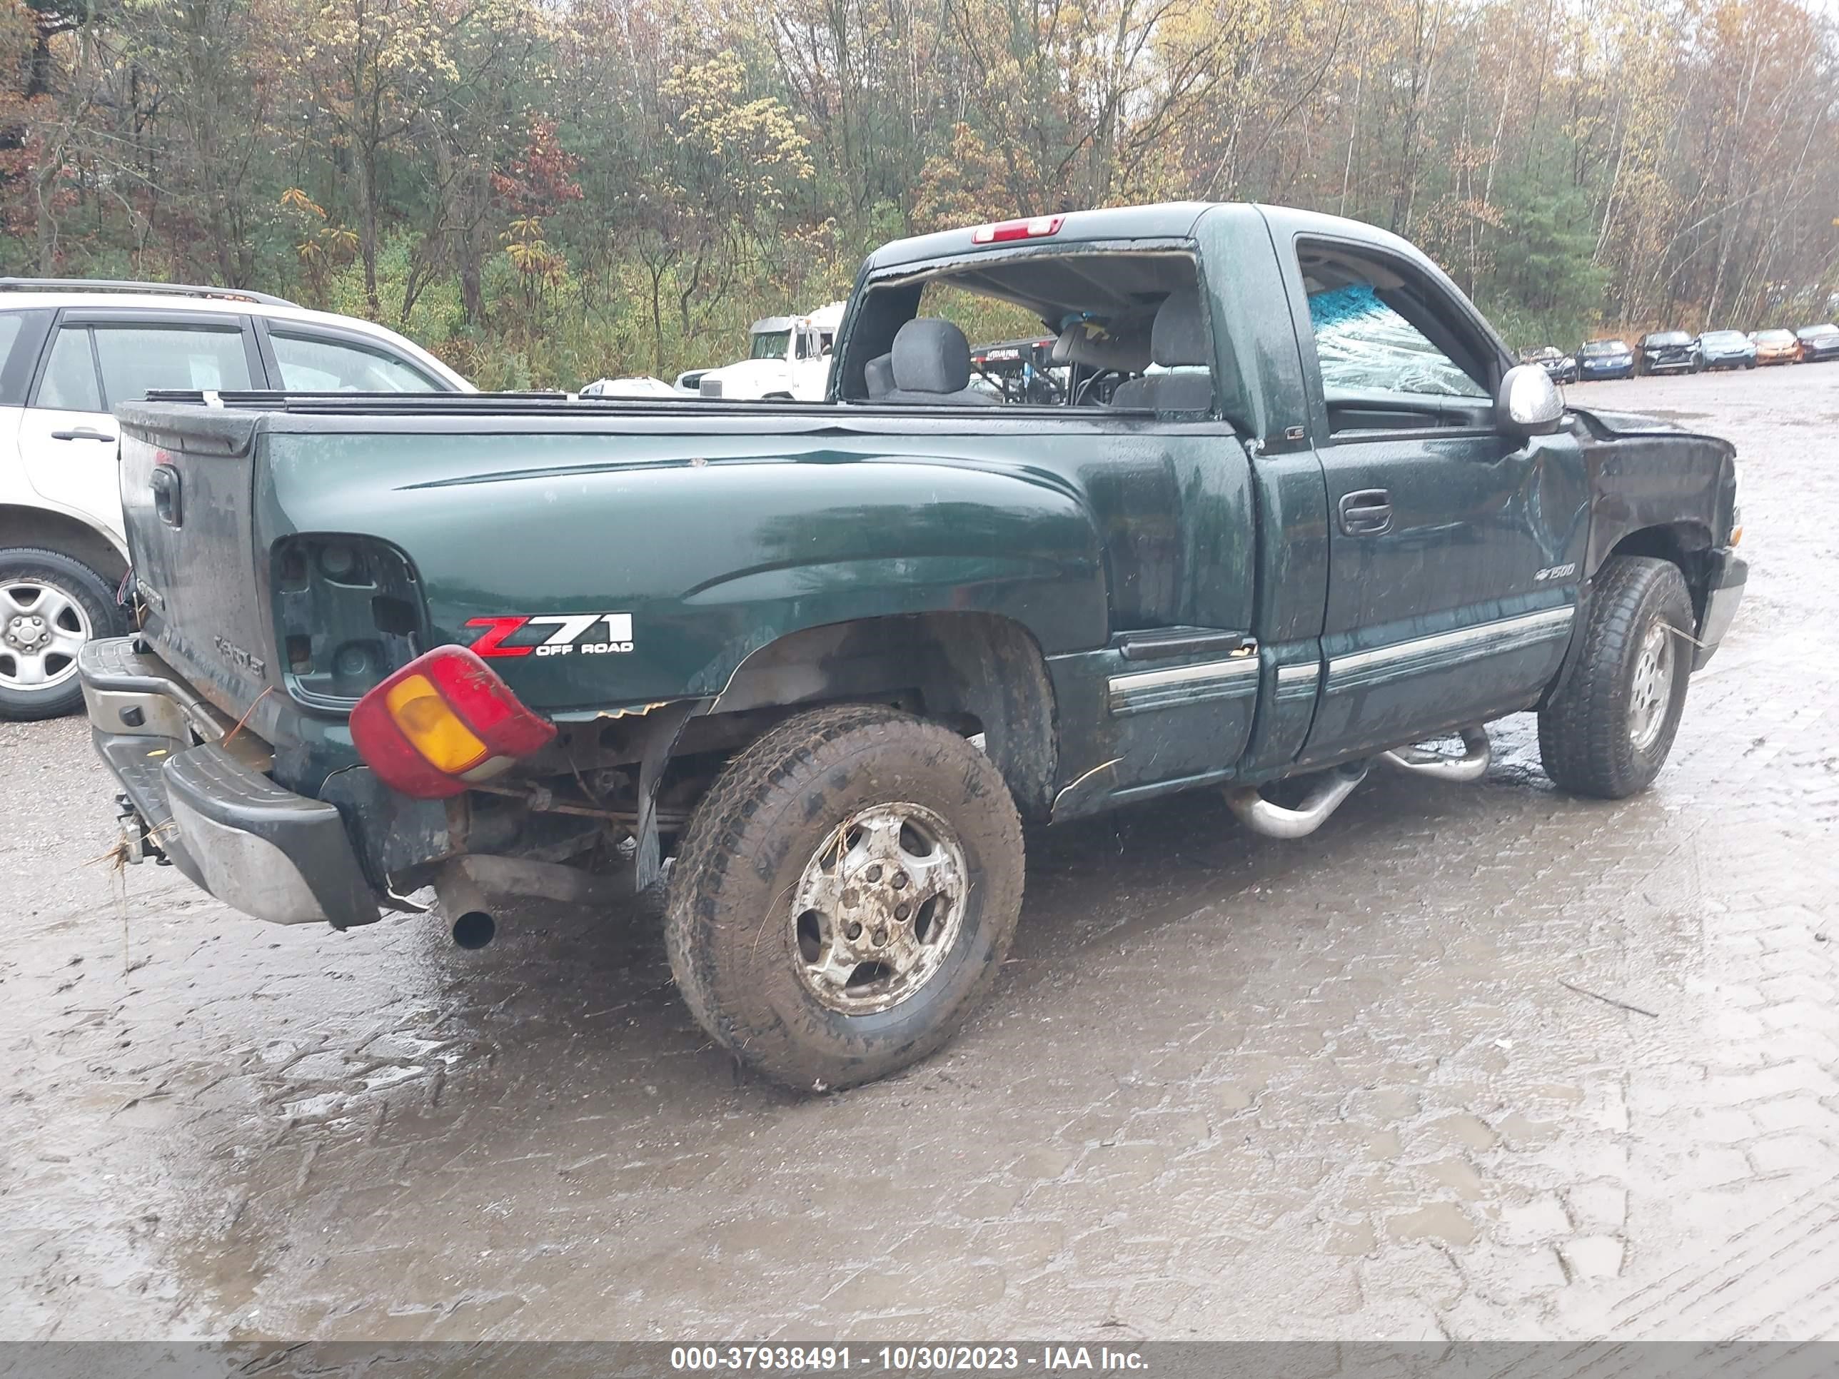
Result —
[[[121,783],[129,855],[164,855],[245,914],[337,929],[377,919],[338,811],[276,785],[267,750],[224,737],[223,717],[134,638],[77,653],[96,752]]]

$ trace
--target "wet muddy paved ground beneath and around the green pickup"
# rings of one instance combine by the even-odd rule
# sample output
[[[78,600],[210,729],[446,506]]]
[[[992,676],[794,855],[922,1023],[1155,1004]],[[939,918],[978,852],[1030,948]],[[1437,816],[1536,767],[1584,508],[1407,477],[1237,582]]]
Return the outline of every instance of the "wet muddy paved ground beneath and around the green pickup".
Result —
[[[1745,462],[1672,765],[1030,838],[997,998],[736,1085],[655,916],[243,919],[0,724],[4,1337],[1839,1337],[1839,366],[1591,384]],[[1631,1009],[1639,1008],[1639,1009]]]

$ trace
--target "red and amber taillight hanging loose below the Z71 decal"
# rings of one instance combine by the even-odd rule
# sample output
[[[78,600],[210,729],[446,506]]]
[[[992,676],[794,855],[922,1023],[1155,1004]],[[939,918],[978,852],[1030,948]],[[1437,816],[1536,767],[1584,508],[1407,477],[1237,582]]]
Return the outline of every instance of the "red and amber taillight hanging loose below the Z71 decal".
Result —
[[[555,724],[519,702],[467,647],[434,647],[351,710],[351,741],[384,785],[417,800],[460,794],[546,746]]]

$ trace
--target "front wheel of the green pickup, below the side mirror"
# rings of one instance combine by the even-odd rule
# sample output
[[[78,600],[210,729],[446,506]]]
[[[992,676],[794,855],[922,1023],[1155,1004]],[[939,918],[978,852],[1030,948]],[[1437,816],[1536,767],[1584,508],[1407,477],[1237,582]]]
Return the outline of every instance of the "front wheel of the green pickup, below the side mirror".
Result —
[[[1589,607],[1571,678],[1539,710],[1539,761],[1572,794],[1624,800],[1673,748],[1692,678],[1692,596],[1677,564],[1616,555]]]

